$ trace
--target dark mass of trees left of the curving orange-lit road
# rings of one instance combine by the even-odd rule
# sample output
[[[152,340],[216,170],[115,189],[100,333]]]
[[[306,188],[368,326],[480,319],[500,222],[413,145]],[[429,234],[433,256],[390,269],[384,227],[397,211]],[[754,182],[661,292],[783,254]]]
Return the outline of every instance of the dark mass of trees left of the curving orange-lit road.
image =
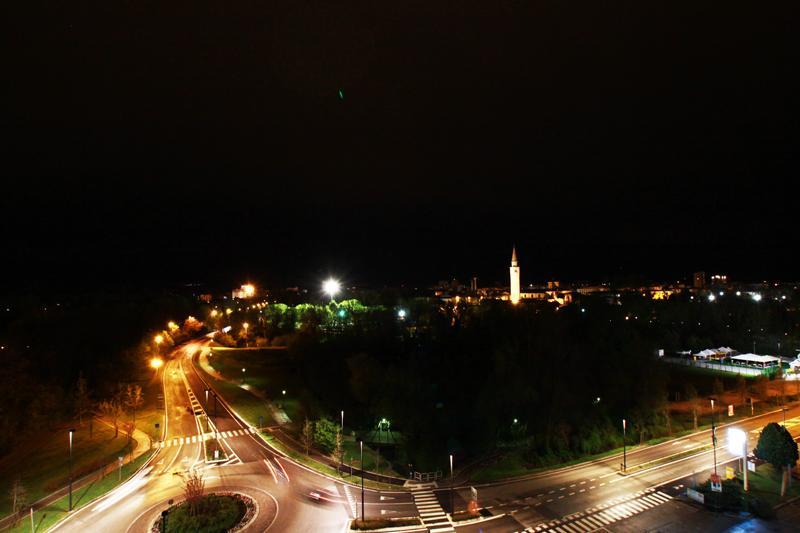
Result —
[[[78,421],[147,364],[149,332],[193,311],[173,294],[18,297],[0,319],[0,454],[27,433]],[[144,339],[144,340],[143,340]]]

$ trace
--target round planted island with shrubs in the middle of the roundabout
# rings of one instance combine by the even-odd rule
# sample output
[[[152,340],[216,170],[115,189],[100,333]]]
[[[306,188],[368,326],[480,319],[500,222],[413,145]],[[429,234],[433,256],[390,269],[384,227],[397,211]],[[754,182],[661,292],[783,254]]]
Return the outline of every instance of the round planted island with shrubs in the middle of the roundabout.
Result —
[[[153,523],[151,533],[203,531],[225,533],[247,527],[258,514],[258,505],[238,492],[207,494],[192,508],[183,501],[173,505]]]

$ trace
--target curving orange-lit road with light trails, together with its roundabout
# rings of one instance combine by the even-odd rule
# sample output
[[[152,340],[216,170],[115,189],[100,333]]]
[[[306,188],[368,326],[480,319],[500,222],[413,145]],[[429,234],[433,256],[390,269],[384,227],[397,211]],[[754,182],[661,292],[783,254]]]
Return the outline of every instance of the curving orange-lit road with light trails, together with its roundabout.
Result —
[[[164,366],[167,405],[165,447],[131,480],[98,501],[76,511],[55,530],[145,532],[167,500],[182,499],[182,475],[201,468],[208,490],[237,491],[256,499],[259,513],[244,531],[342,532],[355,513],[360,490],[296,465],[268,448],[250,428],[238,421],[220,402],[217,431],[230,435],[222,440],[229,460],[208,464],[202,428],[205,385],[194,370],[191,356],[207,341],[194,341],[176,349]],[[190,392],[195,395],[194,406]],[[326,500],[308,498],[311,490],[325,491]],[[413,516],[408,493],[366,491],[367,516]],[[383,499],[381,498],[383,496]],[[359,502],[360,504],[360,502]],[[360,511],[359,511],[360,512]]]

